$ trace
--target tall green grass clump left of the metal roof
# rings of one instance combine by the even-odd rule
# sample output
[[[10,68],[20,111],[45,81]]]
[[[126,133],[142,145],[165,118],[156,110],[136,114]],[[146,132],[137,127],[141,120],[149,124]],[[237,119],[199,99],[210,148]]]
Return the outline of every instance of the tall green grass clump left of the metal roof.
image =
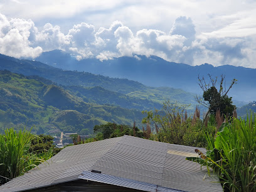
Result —
[[[0,134],[0,182],[6,183],[9,179],[35,168],[53,156],[54,152],[46,149],[49,143],[42,144],[42,138],[32,135],[25,129],[14,131],[6,129],[5,134]],[[56,153],[56,151],[55,151]]]

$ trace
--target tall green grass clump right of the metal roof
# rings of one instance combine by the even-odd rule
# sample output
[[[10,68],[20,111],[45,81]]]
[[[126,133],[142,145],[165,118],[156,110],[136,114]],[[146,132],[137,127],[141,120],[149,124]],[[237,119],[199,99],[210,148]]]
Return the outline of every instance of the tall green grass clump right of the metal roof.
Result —
[[[213,168],[225,191],[256,191],[256,116],[222,124],[216,137],[206,136],[208,152],[201,164]]]

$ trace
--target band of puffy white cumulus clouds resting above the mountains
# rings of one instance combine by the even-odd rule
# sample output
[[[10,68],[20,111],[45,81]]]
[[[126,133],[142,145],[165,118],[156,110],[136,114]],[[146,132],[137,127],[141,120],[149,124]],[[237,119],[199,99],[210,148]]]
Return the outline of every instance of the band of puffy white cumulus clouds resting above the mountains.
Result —
[[[169,33],[157,29],[140,29],[135,33],[120,21],[97,30],[92,24],[75,24],[63,33],[60,26],[46,23],[38,29],[31,19],[9,19],[0,14],[0,53],[16,58],[36,58],[43,51],[60,49],[77,60],[156,55],[189,65],[211,63],[256,68],[256,26],[245,33],[241,22],[198,35],[192,19],[185,16],[176,18]],[[235,30],[238,33],[233,33]]]

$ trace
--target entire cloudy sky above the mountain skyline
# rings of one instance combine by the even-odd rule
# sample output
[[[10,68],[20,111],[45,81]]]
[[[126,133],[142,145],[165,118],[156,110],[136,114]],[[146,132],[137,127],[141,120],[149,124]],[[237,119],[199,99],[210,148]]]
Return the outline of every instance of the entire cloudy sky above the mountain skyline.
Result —
[[[0,0],[0,53],[256,68],[255,0]]]

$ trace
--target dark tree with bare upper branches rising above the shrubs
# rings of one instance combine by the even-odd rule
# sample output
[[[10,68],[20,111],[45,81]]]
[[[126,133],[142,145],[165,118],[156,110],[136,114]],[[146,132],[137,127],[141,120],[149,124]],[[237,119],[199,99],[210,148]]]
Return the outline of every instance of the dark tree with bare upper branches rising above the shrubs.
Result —
[[[221,75],[220,89],[217,90],[216,84],[218,77],[212,78],[210,74],[208,74],[208,76],[210,77],[210,83],[206,83],[205,78],[200,78],[198,75],[198,85],[200,85],[201,89],[203,90],[203,98],[196,96],[196,101],[208,108],[206,117],[208,114],[216,114],[217,110],[220,110],[221,115],[232,117],[233,110],[236,107],[232,104],[232,97],[228,97],[227,93],[237,82],[237,80],[234,78],[227,89],[225,83],[223,85],[225,75]]]

